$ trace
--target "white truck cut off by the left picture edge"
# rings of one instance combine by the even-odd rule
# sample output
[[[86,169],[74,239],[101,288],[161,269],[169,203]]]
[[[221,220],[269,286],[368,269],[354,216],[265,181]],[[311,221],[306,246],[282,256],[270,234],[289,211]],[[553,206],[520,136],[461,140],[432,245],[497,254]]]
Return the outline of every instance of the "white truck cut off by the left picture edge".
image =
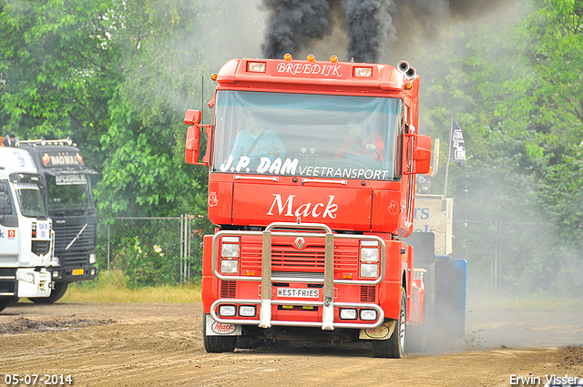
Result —
[[[41,184],[26,150],[0,147],[0,311],[19,297],[51,295],[46,268],[52,263],[55,234]]]

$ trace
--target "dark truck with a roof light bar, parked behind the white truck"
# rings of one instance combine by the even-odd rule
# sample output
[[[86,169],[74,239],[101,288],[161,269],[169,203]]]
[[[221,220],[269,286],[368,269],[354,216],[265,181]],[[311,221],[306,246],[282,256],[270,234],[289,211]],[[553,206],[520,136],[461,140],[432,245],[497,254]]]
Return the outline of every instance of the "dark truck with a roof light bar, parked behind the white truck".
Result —
[[[97,215],[91,177],[97,172],[85,166],[71,138],[21,140],[19,148],[35,161],[42,180],[41,194],[55,230],[55,289],[48,298],[30,298],[51,303],[66,293],[68,284],[96,277]]]

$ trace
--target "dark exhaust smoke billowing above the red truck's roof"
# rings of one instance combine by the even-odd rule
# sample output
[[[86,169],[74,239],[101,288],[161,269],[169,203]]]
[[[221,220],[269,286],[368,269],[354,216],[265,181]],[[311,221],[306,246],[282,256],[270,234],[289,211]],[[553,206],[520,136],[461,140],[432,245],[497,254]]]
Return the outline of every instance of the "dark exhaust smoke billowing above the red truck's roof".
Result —
[[[348,37],[348,56],[355,62],[376,62],[384,49],[408,36],[435,36],[452,17],[470,20],[496,9],[508,0],[263,0],[270,12],[263,55],[296,55],[313,39],[332,33],[331,9],[342,6]],[[399,20],[399,15],[407,20]],[[412,30],[411,28],[418,28]]]

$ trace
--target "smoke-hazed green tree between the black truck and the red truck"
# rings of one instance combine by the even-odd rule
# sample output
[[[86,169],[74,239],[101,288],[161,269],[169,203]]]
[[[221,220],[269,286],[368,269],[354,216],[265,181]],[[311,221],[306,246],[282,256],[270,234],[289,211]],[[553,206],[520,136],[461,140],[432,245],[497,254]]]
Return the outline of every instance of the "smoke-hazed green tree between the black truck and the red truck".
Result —
[[[187,108],[199,106],[206,73],[198,2],[121,3],[113,40],[125,53],[123,81],[109,101],[107,155],[96,189],[102,213],[206,213],[206,173],[184,162]]]

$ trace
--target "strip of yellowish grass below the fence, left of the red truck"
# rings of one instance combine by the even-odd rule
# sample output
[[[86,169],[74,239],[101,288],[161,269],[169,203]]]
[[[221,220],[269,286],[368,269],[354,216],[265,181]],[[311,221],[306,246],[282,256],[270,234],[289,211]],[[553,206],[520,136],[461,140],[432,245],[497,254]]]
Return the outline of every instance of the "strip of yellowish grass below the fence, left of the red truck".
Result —
[[[161,285],[157,287],[128,287],[128,278],[120,271],[99,273],[96,280],[69,285],[65,296],[58,302],[80,303],[191,303],[200,302],[200,284],[184,286]]]

